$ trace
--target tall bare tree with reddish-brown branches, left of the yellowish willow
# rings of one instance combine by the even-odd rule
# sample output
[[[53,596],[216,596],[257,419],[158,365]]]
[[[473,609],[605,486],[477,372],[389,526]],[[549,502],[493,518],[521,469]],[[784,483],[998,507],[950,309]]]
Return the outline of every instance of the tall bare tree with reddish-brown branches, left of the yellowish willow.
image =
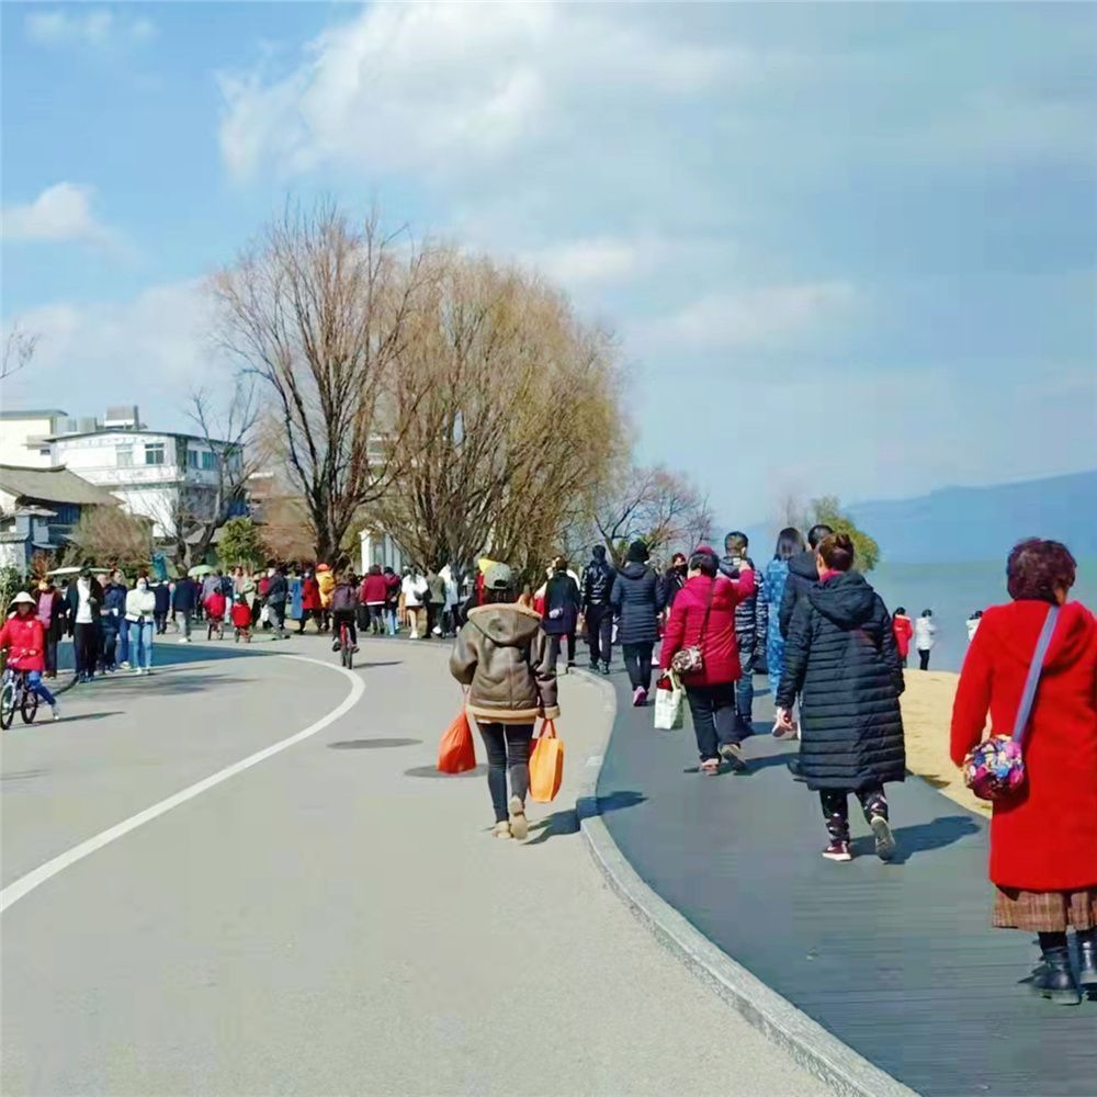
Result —
[[[318,558],[335,558],[407,466],[419,394],[393,393],[427,273],[376,215],[355,226],[323,202],[287,210],[213,280],[220,342],[273,405]]]

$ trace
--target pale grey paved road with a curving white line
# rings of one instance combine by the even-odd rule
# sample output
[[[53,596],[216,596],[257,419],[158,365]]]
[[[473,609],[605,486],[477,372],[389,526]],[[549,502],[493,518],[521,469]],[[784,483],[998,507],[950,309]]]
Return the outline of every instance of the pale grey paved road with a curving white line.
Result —
[[[159,654],[4,737],[5,887],[354,688],[319,640]],[[437,651],[362,655],[340,719],[4,912],[5,1095],[823,1092],[609,892],[574,791],[529,845],[488,836],[483,776],[433,771]],[[574,787],[609,716],[563,692]]]

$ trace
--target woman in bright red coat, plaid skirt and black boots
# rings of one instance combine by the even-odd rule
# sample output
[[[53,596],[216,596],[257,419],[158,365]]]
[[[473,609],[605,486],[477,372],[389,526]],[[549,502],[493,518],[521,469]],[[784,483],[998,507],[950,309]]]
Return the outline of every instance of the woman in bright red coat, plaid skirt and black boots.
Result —
[[[994,925],[1040,935],[1044,997],[1081,1000],[1066,930],[1077,931],[1081,982],[1097,991],[1097,622],[1067,602],[1076,565],[1055,541],[1022,541],[1009,554],[1014,601],[982,618],[952,708],[952,760],[963,764],[985,735],[1009,734],[1037,638],[1051,606],[1059,620],[1025,739],[1026,781],[995,802],[991,881]]]

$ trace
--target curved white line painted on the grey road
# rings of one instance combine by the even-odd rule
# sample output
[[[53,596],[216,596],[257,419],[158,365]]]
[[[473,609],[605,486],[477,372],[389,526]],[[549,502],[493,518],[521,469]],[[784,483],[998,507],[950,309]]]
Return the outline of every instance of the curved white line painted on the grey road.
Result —
[[[289,738],[272,743],[269,747],[263,747],[262,750],[257,750],[253,755],[248,755],[247,758],[241,758],[240,761],[233,762],[231,766],[226,766],[211,777],[206,777],[195,784],[182,789],[174,793],[174,795],[168,796],[167,800],[161,800],[157,804],[152,804],[151,807],[146,807],[136,815],[131,815],[129,818],[124,819],[122,823],[101,830],[93,838],[81,841],[78,846],[73,846],[64,853],[59,853],[52,860],[46,861],[45,864],[39,864],[36,869],[32,869],[25,877],[20,877],[4,887],[3,891],[0,891],[0,914],[7,911],[12,904],[18,903],[24,895],[34,891],[39,884],[44,884],[59,872],[64,872],[67,868],[76,864],[77,861],[82,861],[86,857],[90,857],[95,850],[109,846],[112,841],[117,841],[118,838],[129,834],[131,830],[136,830],[137,827],[144,826],[146,823],[151,823],[152,819],[159,818],[161,815],[170,812],[172,807],[185,804],[188,800],[200,796],[203,792],[227,781],[230,777],[236,777],[237,773],[242,773],[246,769],[258,766],[259,762],[265,761],[268,758],[273,758],[274,755],[281,754],[283,750],[287,750],[298,743],[303,743],[305,739],[316,735],[317,732],[323,732],[329,724],[333,724],[340,716],[348,713],[365,692],[365,683],[362,679],[343,667],[336,666],[332,663],[325,663],[321,659],[312,659],[307,655],[282,654],[282,658],[298,659],[302,663],[315,663],[318,667],[327,667],[329,670],[339,671],[339,674],[350,679],[350,693],[347,694],[341,704],[332,709],[326,716],[321,716],[315,724],[309,724],[303,732],[297,732]]]

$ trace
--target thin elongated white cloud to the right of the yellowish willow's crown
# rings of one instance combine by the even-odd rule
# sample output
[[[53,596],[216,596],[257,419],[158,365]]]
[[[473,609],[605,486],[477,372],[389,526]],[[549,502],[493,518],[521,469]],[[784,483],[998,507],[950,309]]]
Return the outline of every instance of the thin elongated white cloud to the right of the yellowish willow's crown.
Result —
[[[648,351],[781,347],[847,319],[856,299],[841,281],[717,292],[635,325],[630,341]]]

